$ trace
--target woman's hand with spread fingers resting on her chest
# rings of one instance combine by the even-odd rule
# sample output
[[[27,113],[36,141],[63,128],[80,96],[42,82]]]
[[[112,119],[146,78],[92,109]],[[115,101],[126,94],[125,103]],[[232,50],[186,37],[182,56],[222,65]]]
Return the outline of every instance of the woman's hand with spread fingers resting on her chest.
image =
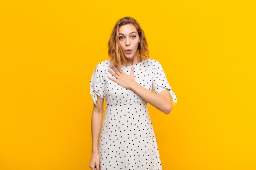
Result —
[[[116,68],[117,69],[116,69]],[[120,86],[124,87],[124,88],[128,88],[128,89],[131,89],[132,88],[132,85],[135,82],[135,79],[134,79],[134,71],[133,71],[133,66],[131,68],[131,73],[130,75],[127,75],[126,73],[124,73],[124,71],[119,67],[119,66],[116,66],[115,67],[113,66],[110,66],[110,68],[112,68],[112,70],[114,71],[111,71],[110,69],[108,69],[108,72],[110,72],[110,74],[112,74],[114,77],[116,77],[117,79],[115,78],[112,78],[112,77],[109,77],[108,76],[108,79],[112,80],[113,82],[116,82],[117,84],[119,84]]]

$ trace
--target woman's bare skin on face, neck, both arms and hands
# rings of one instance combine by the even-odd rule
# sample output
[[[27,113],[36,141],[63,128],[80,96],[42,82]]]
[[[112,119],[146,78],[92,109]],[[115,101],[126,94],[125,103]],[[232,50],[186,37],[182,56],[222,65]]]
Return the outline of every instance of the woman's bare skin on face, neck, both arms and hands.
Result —
[[[121,33],[119,34],[119,44],[125,54],[127,66],[135,65],[141,62],[141,58],[137,54],[140,38],[136,27],[133,24],[120,26],[119,33]],[[126,53],[126,49],[132,49],[132,53]],[[152,91],[135,82],[133,66],[131,68],[130,75],[124,73],[124,71],[119,66],[115,65],[115,67],[117,69],[111,66],[113,71],[108,71],[117,79],[112,77],[108,77],[108,79],[118,83],[124,88],[128,88],[134,91],[139,97],[141,97],[141,99],[144,99],[146,102],[158,110],[161,110],[165,114],[169,114],[171,112],[172,103],[168,89],[165,89],[158,94],[153,93]],[[98,142],[103,118],[103,100],[104,99],[101,99],[97,96],[97,106],[94,105],[92,110],[92,156],[89,164],[89,167],[92,170],[99,170]]]

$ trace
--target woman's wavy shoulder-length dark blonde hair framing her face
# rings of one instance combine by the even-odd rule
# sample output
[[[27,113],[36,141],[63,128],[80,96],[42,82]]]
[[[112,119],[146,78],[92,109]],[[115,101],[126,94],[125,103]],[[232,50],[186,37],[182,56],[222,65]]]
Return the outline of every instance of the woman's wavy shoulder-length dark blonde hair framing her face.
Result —
[[[140,42],[138,45],[137,54],[141,57],[141,60],[146,60],[149,57],[148,43],[144,31],[141,29],[141,26],[134,18],[123,17],[119,19],[115,24],[108,41],[108,57],[111,61],[111,64],[118,66],[121,66],[122,63],[127,64],[126,58],[119,44],[119,28],[120,26],[126,24],[133,24],[139,33]]]

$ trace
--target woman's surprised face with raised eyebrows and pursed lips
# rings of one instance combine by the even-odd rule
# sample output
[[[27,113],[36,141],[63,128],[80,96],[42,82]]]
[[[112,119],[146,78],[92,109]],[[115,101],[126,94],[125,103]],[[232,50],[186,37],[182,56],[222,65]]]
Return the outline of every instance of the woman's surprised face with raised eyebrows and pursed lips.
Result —
[[[122,25],[119,28],[119,44],[127,59],[137,56],[139,34],[133,24]]]

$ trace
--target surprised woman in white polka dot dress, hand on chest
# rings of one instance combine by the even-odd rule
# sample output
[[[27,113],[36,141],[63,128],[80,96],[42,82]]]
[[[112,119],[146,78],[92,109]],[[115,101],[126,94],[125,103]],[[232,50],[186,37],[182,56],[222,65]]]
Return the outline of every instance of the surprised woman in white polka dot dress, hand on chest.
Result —
[[[171,97],[173,104],[177,103],[176,95],[161,64],[148,58],[144,31],[135,19],[124,17],[117,21],[108,47],[110,60],[96,66],[90,81],[94,108],[89,167],[161,170],[147,103],[168,114]],[[103,98],[106,111],[101,130]]]

